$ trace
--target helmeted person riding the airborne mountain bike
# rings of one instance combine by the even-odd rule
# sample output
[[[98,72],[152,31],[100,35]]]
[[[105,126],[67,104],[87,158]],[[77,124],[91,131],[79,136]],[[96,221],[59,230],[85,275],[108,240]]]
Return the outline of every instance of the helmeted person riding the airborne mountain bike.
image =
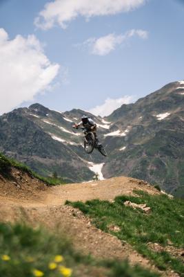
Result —
[[[98,145],[98,148],[102,148],[102,145],[101,145],[101,143],[99,143],[99,139],[97,138],[97,135],[96,135],[96,123],[94,122],[94,120],[92,120],[92,118],[84,115],[84,116],[81,117],[81,122],[78,123],[78,124],[75,123],[73,125],[73,127],[78,129],[78,127],[80,125],[83,125],[86,132],[93,132],[96,143]]]

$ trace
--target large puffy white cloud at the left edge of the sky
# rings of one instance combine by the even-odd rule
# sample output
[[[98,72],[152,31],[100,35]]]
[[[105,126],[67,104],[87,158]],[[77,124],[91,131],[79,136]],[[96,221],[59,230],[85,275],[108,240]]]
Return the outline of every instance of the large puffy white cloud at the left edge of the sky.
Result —
[[[39,92],[50,89],[59,71],[51,64],[34,35],[8,39],[0,28],[0,113],[10,111]]]

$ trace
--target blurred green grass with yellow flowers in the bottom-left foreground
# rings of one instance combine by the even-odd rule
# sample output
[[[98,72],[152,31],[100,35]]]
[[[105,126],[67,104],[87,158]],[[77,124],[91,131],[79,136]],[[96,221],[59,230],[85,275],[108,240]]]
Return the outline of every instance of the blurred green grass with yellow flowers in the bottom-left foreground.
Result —
[[[57,267],[50,269],[49,264],[54,262],[56,256],[62,256],[63,261],[55,262]],[[59,272],[61,265],[72,269],[73,277],[94,276],[94,269],[99,272],[103,270],[103,276],[109,277],[159,276],[137,265],[132,267],[127,261],[94,260],[90,256],[82,256],[63,234],[58,236],[22,224],[0,223],[0,276],[33,277],[36,276],[34,269],[37,269],[42,276],[69,277],[70,274],[62,275]]]

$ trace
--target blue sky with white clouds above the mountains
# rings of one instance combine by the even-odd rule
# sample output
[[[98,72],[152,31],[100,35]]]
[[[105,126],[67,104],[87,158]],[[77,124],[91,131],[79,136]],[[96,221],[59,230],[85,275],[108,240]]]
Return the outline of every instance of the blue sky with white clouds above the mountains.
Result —
[[[55,1],[61,5],[65,2]],[[3,50],[0,41],[1,113],[40,102],[59,111],[81,108],[105,115],[123,102],[132,102],[168,82],[184,79],[184,1],[137,0],[136,3],[130,0],[134,3],[133,10],[125,12],[115,7],[113,15],[109,11],[103,15],[103,0],[93,1],[92,8],[85,3],[85,14],[83,6],[78,7],[74,18],[63,20],[62,24],[67,25],[64,28],[55,17],[54,26],[45,30],[46,19],[40,16],[37,26],[34,20],[45,9],[45,3],[51,1],[0,0],[0,28],[3,29],[0,35],[6,41]],[[74,2],[70,2],[70,7],[66,7],[69,12],[74,10]],[[99,2],[102,2],[99,8],[102,14],[94,9]],[[87,19],[90,9],[94,14]],[[68,10],[62,12],[63,18]],[[14,40],[17,35],[24,40]],[[28,35],[37,39],[34,46],[32,40],[27,40]],[[100,38],[103,39],[99,41]],[[107,41],[112,48],[107,48]],[[35,44],[40,44],[41,49]],[[15,57],[10,57],[10,46],[17,53]],[[34,47],[37,49],[32,50]],[[26,55],[30,55],[30,60]],[[11,70],[12,66],[16,72]],[[36,68],[34,73],[28,70],[31,68]],[[6,72],[10,72],[7,79],[3,76]],[[42,82],[39,82],[40,76],[44,79]],[[96,106],[100,107],[96,109]]]

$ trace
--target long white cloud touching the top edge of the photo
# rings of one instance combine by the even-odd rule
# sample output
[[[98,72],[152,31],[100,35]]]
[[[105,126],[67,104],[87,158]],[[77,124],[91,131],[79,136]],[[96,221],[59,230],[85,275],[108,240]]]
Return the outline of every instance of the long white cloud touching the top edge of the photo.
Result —
[[[143,5],[147,0],[54,0],[45,4],[39,16],[34,20],[38,28],[44,30],[59,24],[66,28],[67,24],[82,16],[90,17],[115,15],[129,12]]]

